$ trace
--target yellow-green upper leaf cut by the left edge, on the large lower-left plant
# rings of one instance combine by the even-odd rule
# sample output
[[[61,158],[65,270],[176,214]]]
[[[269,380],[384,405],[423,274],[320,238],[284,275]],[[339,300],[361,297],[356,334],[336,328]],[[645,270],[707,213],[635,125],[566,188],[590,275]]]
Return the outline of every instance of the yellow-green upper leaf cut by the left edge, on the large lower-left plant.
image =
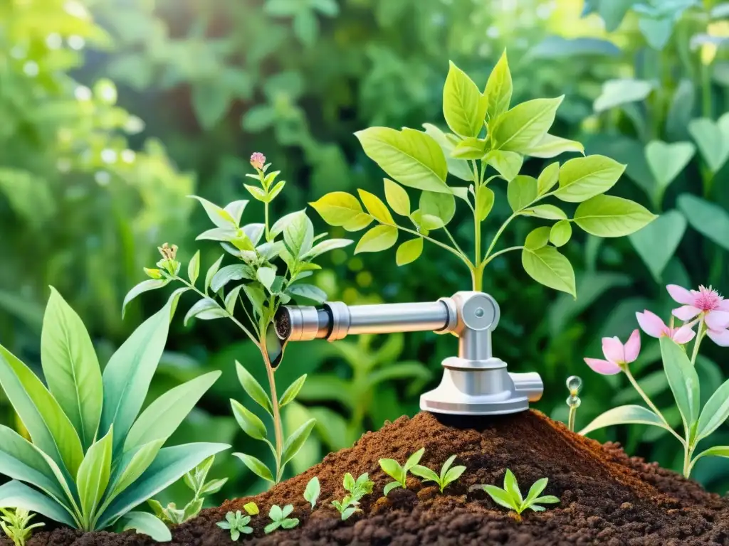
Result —
[[[74,425],[31,369],[1,345],[0,385],[34,445],[75,475],[84,452]]]

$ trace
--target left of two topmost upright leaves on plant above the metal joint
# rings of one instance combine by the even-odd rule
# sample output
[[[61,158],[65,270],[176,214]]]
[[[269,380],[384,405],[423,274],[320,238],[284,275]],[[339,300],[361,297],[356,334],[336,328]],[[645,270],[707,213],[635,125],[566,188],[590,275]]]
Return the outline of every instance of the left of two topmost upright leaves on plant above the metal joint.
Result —
[[[443,87],[443,116],[451,131],[477,137],[483,130],[487,106],[476,84],[451,61]]]

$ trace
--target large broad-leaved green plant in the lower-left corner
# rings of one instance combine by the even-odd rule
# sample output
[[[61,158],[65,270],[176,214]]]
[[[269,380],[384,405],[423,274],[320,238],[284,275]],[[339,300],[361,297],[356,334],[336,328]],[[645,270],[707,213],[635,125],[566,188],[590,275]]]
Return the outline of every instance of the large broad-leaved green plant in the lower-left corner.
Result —
[[[33,510],[84,531],[119,523],[157,540],[171,538],[152,514],[130,510],[230,447],[163,448],[218,371],[165,392],[139,413],[174,303],[171,298],[139,326],[103,374],[81,319],[54,289],[41,336],[48,387],[0,346],[0,385],[31,438],[0,425],[0,473],[13,478],[0,486],[0,507]]]

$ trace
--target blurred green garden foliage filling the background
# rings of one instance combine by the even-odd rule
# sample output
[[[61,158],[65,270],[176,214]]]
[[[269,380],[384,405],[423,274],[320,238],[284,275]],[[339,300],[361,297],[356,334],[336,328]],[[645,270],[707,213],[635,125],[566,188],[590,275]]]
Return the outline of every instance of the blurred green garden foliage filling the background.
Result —
[[[628,163],[632,183],[620,183],[621,196],[661,214],[629,240],[575,237],[577,301],[529,280],[518,256],[495,260],[485,279],[502,307],[496,355],[512,371],[542,373],[536,407],[562,420],[564,380],[582,376],[579,429],[636,401],[621,377],[596,376],[582,362],[600,355],[601,336],[625,339],[636,311],[667,317],[668,282],[729,290],[728,16],[728,4],[712,0],[8,0],[0,7],[0,339],[38,363],[53,284],[90,325],[98,351],[109,352],[163,301],[131,304],[121,320],[123,296],[144,279],[157,245],[174,242],[182,261],[192,256],[206,218],[187,194],[245,198],[253,151],[289,180],[276,215],[328,191],[377,191],[383,173],[352,133],[441,119],[448,60],[483,82],[506,47],[514,103],[566,94],[553,132]],[[531,159],[525,170],[544,166]],[[509,213],[494,209],[488,235]],[[454,231],[468,240],[462,227]],[[207,252],[211,263],[214,245]],[[394,251],[363,260],[341,250],[327,260],[317,283],[348,303],[426,301],[470,282],[437,249],[404,268]],[[172,330],[150,398],[223,371],[173,440],[230,441],[248,452],[227,400],[239,395],[235,360],[265,378],[257,349],[219,323]],[[643,341],[634,373],[663,409],[671,395],[658,342]],[[726,375],[713,349],[699,363],[711,390]],[[286,427],[319,421],[292,470],[414,414],[455,351],[451,336],[432,333],[290,345],[281,384],[309,376],[300,403],[285,408]],[[418,362],[419,381],[398,379],[394,364]],[[660,432],[620,427],[595,437],[680,468],[682,454]],[[231,457],[219,457],[214,472],[231,478],[220,498],[263,488]],[[694,476],[723,493],[729,463],[703,461]],[[180,491],[170,494],[184,500]]]

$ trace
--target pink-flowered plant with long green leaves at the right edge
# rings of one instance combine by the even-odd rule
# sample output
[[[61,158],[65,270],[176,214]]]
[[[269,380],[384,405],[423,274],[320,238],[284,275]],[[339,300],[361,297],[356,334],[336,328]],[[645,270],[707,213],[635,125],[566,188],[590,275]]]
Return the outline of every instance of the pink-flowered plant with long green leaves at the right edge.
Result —
[[[649,336],[660,339],[660,355],[668,386],[674,395],[683,423],[679,435],[666,417],[650,400],[630,370],[640,352],[640,333],[635,330],[625,345],[615,338],[603,338],[605,359],[585,358],[593,371],[603,375],[623,372],[648,408],[642,405],[621,405],[596,417],[580,431],[585,435],[613,424],[650,424],[661,427],[679,440],[684,451],[683,475],[688,478],[694,465],[704,456],[729,457],[729,446],[714,446],[694,455],[698,443],[717,430],[729,418],[729,380],[725,381],[701,408],[701,384],[695,365],[699,347],[708,337],[720,347],[729,347],[729,301],[711,287],[686,290],[668,285],[668,293],[681,304],[674,309],[668,325],[658,315],[645,310],[636,313],[638,324]],[[678,319],[680,324],[674,324]],[[694,330],[694,328],[696,328]],[[693,347],[689,347],[693,341]],[[649,409],[650,408],[650,409]]]

